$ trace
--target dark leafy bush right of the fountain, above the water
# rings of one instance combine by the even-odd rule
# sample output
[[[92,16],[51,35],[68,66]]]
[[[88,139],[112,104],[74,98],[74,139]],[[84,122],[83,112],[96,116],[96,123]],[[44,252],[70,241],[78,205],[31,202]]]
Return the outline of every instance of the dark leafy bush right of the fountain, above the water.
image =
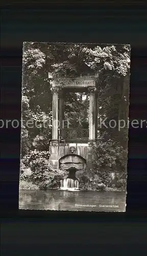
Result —
[[[99,177],[99,181],[107,187],[124,189],[126,187],[127,150],[112,139],[97,142],[93,150],[95,153],[93,173]],[[114,173],[114,180],[110,173]]]

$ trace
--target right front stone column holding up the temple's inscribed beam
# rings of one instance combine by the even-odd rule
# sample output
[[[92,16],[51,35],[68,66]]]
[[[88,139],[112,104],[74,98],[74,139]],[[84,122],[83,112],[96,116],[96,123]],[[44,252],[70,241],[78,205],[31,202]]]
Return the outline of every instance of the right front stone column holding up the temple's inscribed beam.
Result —
[[[89,141],[95,141],[95,87],[88,88],[89,92]]]

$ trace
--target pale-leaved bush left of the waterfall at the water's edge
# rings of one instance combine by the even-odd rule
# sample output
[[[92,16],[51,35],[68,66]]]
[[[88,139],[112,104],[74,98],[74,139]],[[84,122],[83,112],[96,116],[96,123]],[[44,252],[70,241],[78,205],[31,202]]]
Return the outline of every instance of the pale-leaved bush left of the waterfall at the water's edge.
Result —
[[[46,151],[31,151],[21,160],[20,180],[33,182],[40,189],[60,187],[60,181],[64,179],[65,170],[55,170],[49,162],[50,153]],[[31,174],[27,174],[27,170]]]

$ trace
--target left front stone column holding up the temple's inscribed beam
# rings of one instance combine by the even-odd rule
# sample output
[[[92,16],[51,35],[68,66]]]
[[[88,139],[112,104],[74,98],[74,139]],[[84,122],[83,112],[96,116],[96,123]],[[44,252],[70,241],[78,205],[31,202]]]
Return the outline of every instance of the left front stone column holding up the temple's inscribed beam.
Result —
[[[52,141],[58,141],[58,88],[52,88],[53,90],[53,103],[52,103]]]

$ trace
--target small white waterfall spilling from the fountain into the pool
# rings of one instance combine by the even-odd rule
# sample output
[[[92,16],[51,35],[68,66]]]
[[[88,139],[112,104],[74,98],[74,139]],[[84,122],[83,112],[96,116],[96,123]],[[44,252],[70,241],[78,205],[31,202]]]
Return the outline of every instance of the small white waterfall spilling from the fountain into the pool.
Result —
[[[63,190],[77,190],[79,189],[79,181],[77,179],[66,178],[61,181],[60,188]]]

